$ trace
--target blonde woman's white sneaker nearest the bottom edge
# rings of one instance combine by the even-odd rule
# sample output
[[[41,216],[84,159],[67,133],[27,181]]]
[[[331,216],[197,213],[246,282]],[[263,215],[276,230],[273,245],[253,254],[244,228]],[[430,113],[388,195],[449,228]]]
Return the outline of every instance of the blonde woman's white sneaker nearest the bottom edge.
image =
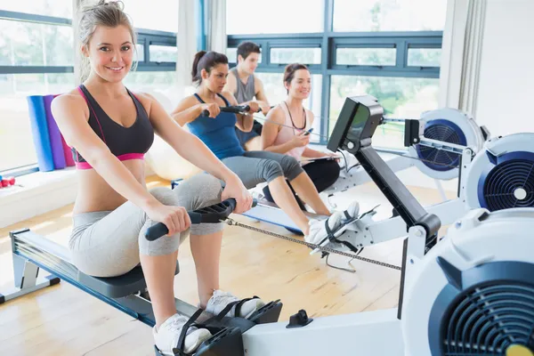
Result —
[[[173,349],[178,347],[178,340],[182,334],[183,324],[187,318],[176,313],[169,319],[165,320],[156,330],[152,328],[154,341],[160,352],[167,356],[174,356]],[[198,349],[198,346],[209,339],[212,334],[206,328],[190,327],[185,336],[183,352],[191,353]]]

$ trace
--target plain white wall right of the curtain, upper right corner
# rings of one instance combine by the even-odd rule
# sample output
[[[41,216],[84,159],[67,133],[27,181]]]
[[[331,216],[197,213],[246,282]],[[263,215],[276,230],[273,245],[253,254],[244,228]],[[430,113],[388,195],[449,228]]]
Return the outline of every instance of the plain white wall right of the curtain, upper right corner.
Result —
[[[474,117],[493,136],[534,132],[534,1],[488,0]]]

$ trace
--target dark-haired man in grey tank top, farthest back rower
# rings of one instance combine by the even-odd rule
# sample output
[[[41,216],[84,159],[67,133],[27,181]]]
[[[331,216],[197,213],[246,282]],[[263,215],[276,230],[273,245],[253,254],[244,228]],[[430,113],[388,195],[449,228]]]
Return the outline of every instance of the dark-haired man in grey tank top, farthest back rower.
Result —
[[[269,101],[265,96],[262,81],[254,75],[260,54],[260,47],[253,42],[239,44],[238,65],[230,70],[231,75],[228,76],[224,91],[232,93],[239,105],[246,105],[250,101],[256,101],[260,104],[263,114],[267,115],[270,109]],[[236,134],[243,149],[262,150],[260,138],[262,127],[262,124],[256,120],[254,120],[254,125],[249,133],[245,133],[236,127]]]

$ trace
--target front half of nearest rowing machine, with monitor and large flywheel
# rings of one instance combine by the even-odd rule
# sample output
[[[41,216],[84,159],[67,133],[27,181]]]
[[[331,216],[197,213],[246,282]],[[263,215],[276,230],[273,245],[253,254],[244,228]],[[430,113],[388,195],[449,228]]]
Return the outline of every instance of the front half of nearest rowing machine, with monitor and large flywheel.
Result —
[[[370,145],[382,111],[372,97],[348,98],[328,146],[358,158],[409,227],[398,308],[256,325],[243,335],[247,356],[534,354],[534,209],[473,210],[436,243],[439,219]]]

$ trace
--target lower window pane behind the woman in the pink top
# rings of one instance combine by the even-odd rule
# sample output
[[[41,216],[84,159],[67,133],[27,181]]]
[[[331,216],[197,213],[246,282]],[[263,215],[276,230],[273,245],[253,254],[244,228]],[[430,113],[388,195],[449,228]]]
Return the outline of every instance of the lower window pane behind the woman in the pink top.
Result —
[[[287,98],[287,91],[283,85],[283,73],[255,73],[255,76],[260,78],[263,82],[263,88],[265,95],[271,105],[278,105]],[[312,93],[310,97],[304,101],[304,107],[310,109],[315,117],[313,121],[313,133],[311,142],[320,142],[320,112],[321,112],[321,86],[322,76],[314,74],[312,75]],[[258,114],[261,115],[261,114]],[[263,123],[261,119],[257,120]]]

